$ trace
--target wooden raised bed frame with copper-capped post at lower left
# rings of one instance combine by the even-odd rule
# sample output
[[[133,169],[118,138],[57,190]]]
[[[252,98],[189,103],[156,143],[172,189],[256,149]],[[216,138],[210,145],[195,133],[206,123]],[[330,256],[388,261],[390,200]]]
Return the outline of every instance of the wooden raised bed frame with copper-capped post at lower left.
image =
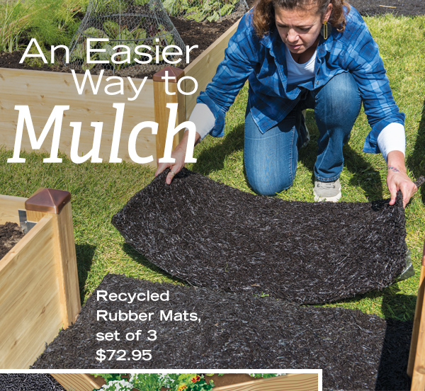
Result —
[[[19,224],[18,210],[36,223],[0,259],[2,369],[28,368],[81,310],[70,198],[52,189],[0,196],[0,224]]]

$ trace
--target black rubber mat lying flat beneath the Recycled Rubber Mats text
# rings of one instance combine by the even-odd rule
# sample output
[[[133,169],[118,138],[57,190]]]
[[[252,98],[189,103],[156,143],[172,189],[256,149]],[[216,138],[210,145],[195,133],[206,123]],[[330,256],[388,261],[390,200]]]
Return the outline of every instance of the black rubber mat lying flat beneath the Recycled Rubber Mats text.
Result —
[[[33,368],[183,369],[322,368],[324,387],[334,390],[407,390],[412,323],[385,322],[375,315],[334,307],[304,307],[271,297],[208,288],[158,284],[106,276],[108,293],[164,293],[169,301],[86,301],[77,322],[60,331]],[[96,320],[108,313],[153,312],[150,321]],[[166,314],[196,312],[198,321],[161,320]],[[126,341],[141,330],[141,341]],[[147,341],[149,330],[157,331]],[[118,331],[121,341],[96,341],[96,333]],[[124,350],[99,362],[98,349]],[[150,361],[127,360],[133,349],[152,351]],[[108,356],[111,353],[106,353]],[[124,361],[115,358],[121,356]]]

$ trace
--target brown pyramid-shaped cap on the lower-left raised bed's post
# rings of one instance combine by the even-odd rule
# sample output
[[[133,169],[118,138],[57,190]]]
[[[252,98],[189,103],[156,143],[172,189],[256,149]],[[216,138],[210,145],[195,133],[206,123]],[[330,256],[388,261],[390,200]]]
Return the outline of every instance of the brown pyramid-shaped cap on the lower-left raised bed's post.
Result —
[[[55,190],[53,188],[39,188],[33,196],[25,202],[26,210],[34,212],[47,212],[59,215],[62,208],[71,200],[69,191]]]

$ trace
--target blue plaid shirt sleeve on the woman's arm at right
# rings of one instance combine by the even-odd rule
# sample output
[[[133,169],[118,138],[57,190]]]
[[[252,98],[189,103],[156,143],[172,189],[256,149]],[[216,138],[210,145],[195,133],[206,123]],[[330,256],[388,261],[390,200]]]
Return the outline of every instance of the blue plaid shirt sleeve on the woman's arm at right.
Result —
[[[366,137],[363,151],[379,153],[378,135],[380,131],[390,123],[404,125],[404,113],[399,112],[392,97],[378,45],[358,12],[350,14],[353,23],[347,23],[346,30],[348,30],[351,42],[348,42],[342,67],[348,69],[356,79],[363,108],[368,116],[370,128],[372,128]]]

